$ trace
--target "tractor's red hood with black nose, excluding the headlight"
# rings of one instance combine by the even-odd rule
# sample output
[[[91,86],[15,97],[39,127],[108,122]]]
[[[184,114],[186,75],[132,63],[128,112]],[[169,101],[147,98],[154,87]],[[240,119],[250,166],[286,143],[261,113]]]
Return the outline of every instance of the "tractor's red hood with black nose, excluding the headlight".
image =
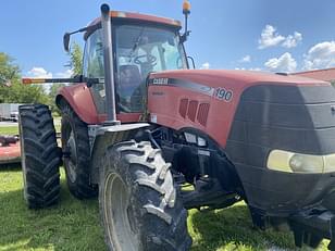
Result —
[[[335,172],[268,167],[275,150],[335,154],[330,83],[246,71],[171,71],[150,75],[148,106],[151,122],[197,129],[215,140],[234,163],[252,208],[289,214],[320,203],[335,186]]]

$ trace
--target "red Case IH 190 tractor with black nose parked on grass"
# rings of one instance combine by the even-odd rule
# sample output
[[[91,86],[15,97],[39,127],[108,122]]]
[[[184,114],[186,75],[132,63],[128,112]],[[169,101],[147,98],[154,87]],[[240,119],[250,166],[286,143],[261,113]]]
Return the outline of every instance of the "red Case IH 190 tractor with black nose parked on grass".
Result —
[[[240,200],[256,226],[286,225],[297,246],[327,238],[335,250],[335,89],[285,74],[189,70],[188,2],[184,14],[181,34],[179,22],[103,4],[77,30],[83,75],[23,79],[76,83],[55,100],[62,149],[46,105],[20,109],[28,206],[59,200],[63,160],[76,198],[99,193],[110,250],[188,250],[187,209]]]

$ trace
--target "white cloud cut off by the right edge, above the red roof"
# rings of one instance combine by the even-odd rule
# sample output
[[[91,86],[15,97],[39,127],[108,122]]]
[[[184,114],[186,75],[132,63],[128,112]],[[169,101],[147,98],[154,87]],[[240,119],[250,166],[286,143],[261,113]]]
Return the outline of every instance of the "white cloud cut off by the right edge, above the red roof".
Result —
[[[335,66],[335,41],[317,43],[305,55],[303,70],[328,68]]]

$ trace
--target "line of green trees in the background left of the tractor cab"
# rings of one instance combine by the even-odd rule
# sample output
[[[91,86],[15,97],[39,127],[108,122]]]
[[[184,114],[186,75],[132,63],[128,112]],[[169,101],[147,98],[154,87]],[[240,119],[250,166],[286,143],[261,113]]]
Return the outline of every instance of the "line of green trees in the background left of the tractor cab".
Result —
[[[83,50],[77,43],[71,48],[67,66],[75,76],[82,74]],[[59,113],[54,98],[63,84],[53,84],[47,92],[42,85],[23,85],[21,78],[22,72],[15,60],[0,52],[0,103],[45,103],[53,113]]]

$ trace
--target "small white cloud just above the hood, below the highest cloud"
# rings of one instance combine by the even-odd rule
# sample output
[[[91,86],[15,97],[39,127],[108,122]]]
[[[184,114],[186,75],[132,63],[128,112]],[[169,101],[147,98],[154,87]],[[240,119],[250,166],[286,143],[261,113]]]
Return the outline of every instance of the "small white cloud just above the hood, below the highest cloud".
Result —
[[[290,53],[285,52],[280,58],[273,58],[264,63],[264,66],[271,72],[295,72],[297,68],[297,61]]]

